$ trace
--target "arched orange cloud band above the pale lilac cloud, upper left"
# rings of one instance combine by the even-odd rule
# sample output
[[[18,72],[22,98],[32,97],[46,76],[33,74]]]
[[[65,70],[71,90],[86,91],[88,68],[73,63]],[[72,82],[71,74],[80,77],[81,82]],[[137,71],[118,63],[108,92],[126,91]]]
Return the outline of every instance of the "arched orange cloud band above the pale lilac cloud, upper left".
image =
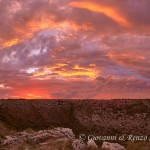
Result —
[[[60,32],[66,33],[68,37],[69,35],[71,36],[71,33],[69,33],[69,29],[75,32],[77,32],[78,30],[92,30],[92,26],[88,23],[78,26],[76,23],[69,22],[69,21],[56,23],[53,21],[53,19],[54,18],[43,19],[43,20],[33,19],[28,21],[23,28],[16,26],[14,28],[16,32],[16,36],[21,35],[21,37],[18,36],[18,38],[13,38],[8,41],[3,41],[3,48],[11,47],[13,45],[22,42],[25,39],[32,38],[35,33],[46,29],[56,29]]]

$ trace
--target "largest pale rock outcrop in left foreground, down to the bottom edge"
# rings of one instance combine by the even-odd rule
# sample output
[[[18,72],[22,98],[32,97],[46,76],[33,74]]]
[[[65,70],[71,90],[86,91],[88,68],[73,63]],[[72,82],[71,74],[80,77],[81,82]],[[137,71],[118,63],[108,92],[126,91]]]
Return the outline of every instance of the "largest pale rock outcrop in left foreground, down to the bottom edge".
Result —
[[[21,145],[33,145],[39,150],[46,148],[61,147],[65,150],[65,146],[75,140],[75,135],[68,128],[54,128],[52,130],[40,130],[38,132],[28,133],[26,131],[9,135],[1,142],[0,147],[5,149],[18,148]]]

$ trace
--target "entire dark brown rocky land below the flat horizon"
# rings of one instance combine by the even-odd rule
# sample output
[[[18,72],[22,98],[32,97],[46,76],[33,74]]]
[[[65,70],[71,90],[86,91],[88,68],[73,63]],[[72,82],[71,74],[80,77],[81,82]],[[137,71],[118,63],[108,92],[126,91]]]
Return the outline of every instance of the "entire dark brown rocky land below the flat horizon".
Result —
[[[79,140],[149,136],[149,111],[149,100],[0,100],[0,150],[149,150],[149,142]]]

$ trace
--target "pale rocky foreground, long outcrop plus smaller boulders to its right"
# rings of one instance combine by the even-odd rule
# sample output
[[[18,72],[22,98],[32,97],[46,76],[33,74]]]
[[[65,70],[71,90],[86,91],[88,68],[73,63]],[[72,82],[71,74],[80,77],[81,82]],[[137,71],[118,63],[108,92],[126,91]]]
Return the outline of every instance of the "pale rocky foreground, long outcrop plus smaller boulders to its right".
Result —
[[[26,130],[5,136],[0,143],[0,150],[125,150],[118,143],[104,142],[99,148],[93,140],[88,142],[75,139],[75,135],[68,128],[54,128],[51,130]]]

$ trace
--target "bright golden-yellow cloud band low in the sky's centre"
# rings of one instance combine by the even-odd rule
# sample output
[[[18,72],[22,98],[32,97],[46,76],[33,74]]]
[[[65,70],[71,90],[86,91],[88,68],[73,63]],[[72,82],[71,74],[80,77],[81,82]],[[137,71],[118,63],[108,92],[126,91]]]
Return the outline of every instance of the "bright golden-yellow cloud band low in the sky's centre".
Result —
[[[63,78],[63,79],[95,79],[98,76],[98,71],[95,68],[84,68],[75,65],[71,70],[67,70],[65,67],[67,64],[56,64],[55,66],[44,68],[43,71],[37,71],[33,73],[33,77],[47,79],[49,75],[55,74],[51,77]],[[95,66],[94,66],[95,67]]]

